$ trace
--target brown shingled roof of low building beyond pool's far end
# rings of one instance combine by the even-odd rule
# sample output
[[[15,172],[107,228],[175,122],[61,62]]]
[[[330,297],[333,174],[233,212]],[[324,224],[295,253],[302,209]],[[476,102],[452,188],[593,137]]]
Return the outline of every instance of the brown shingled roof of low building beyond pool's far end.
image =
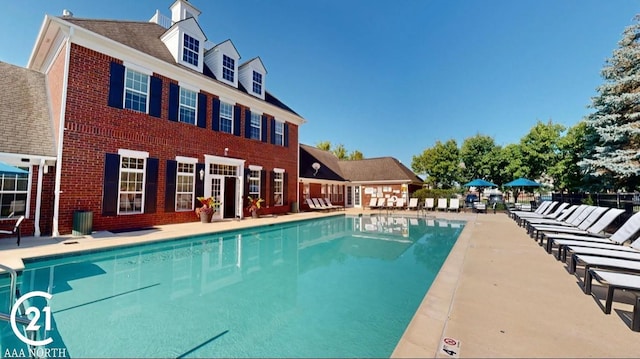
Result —
[[[352,182],[410,181],[423,183],[407,166],[393,157],[339,161],[344,177]]]

